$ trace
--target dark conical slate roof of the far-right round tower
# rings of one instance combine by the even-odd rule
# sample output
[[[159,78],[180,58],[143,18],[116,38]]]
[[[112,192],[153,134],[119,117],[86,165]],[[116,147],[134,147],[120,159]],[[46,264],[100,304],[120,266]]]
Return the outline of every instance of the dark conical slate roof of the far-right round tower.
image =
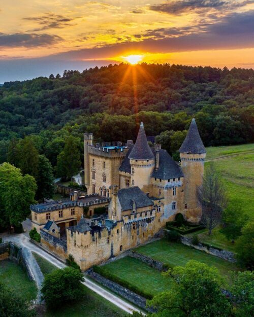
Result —
[[[194,118],[192,119],[192,123],[190,123],[188,133],[179,149],[179,152],[190,153],[190,154],[206,153],[205,147],[199,135],[199,130]]]

